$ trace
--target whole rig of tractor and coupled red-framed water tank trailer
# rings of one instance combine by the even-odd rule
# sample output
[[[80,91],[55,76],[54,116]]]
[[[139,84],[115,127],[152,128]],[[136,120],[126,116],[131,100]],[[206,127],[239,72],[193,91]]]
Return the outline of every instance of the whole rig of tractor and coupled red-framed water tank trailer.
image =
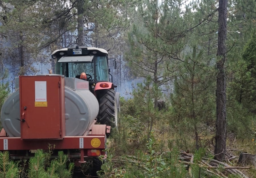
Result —
[[[79,163],[106,157],[106,139],[120,111],[107,54],[93,47],[55,50],[54,74],[16,77],[15,92],[1,109],[0,151],[11,159],[30,158],[31,150],[50,144]]]

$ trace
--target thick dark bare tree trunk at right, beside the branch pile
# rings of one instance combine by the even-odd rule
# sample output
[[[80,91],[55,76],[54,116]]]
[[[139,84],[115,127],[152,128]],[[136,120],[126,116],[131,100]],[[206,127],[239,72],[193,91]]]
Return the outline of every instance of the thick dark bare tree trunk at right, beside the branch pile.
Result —
[[[218,61],[217,61],[217,91],[216,91],[216,137],[215,159],[222,161],[226,153],[226,36],[227,36],[227,0],[219,1],[218,30]]]

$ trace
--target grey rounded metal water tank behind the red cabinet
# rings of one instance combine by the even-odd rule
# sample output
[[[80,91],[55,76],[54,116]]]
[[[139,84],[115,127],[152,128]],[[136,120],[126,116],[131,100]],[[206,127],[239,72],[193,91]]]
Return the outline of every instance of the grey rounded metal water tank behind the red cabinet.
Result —
[[[80,84],[88,84],[76,78],[65,78],[65,118],[66,136],[83,135],[99,112],[97,98],[88,89],[79,89]],[[15,92],[5,100],[1,109],[1,122],[5,132],[11,137],[20,137],[19,78],[15,79]]]

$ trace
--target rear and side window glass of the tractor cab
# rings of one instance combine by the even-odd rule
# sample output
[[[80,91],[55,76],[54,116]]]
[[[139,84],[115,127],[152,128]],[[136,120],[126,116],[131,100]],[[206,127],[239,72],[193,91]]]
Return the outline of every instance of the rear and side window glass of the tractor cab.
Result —
[[[94,61],[96,61],[96,76]],[[57,63],[56,73],[64,75],[65,77],[75,77],[81,75],[82,72],[92,76],[93,81],[109,81],[108,79],[108,66],[106,56],[95,56],[92,62],[86,63]]]

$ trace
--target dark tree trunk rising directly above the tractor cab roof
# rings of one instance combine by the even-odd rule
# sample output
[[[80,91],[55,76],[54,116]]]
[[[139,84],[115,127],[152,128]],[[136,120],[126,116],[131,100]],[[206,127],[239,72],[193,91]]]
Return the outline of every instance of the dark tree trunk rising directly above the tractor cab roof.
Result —
[[[77,11],[78,11],[78,46],[84,46],[84,0],[77,1]]]

